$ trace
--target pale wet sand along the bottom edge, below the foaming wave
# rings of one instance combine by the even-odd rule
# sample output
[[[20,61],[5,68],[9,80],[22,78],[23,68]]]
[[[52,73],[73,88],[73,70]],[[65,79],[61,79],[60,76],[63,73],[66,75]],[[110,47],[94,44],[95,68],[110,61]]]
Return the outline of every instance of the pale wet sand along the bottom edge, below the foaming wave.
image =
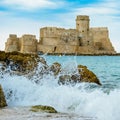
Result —
[[[30,107],[6,107],[0,109],[0,120],[96,120],[96,118],[74,113],[32,112]]]

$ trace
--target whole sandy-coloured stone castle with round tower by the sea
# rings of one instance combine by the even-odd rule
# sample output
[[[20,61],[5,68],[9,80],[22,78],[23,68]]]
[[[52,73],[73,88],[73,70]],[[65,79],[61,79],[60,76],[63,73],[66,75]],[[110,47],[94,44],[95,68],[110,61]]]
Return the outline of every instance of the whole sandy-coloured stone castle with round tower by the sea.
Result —
[[[89,27],[89,16],[76,18],[76,29],[44,27],[40,40],[25,34],[18,38],[11,34],[5,44],[5,52],[50,54],[115,54],[107,27]]]

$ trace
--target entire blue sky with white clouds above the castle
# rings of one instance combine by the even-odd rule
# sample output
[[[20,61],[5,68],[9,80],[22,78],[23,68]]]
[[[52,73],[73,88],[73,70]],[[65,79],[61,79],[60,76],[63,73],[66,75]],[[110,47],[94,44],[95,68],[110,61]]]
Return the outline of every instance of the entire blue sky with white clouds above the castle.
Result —
[[[77,15],[88,15],[90,27],[108,27],[110,40],[120,52],[119,0],[0,0],[0,50],[9,34],[33,34],[40,28],[75,28]]]

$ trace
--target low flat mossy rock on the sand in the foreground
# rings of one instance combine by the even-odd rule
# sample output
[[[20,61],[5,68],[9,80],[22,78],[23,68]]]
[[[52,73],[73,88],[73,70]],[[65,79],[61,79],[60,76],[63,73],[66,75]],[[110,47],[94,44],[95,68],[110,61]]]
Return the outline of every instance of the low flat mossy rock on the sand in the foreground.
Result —
[[[57,113],[57,111],[51,106],[36,105],[32,106],[30,111],[33,112],[47,112],[47,113]]]

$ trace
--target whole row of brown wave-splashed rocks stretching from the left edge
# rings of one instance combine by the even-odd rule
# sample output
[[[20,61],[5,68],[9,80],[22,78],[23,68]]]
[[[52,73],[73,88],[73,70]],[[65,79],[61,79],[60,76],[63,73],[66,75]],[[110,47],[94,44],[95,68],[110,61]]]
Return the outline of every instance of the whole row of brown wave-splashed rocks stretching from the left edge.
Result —
[[[56,78],[59,77],[59,84],[89,82],[101,85],[97,76],[88,70],[86,66],[82,65],[78,65],[76,73],[73,71],[71,74],[66,74],[58,62],[48,66],[42,57],[38,57],[35,54],[22,54],[18,52],[0,52],[0,61],[4,62],[1,70],[4,71],[5,67],[9,67],[15,74],[26,75],[26,77],[34,80],[36,83],[39,83],[45,75],[52,73]],[[40,66],[39,63],[41,64]]]

